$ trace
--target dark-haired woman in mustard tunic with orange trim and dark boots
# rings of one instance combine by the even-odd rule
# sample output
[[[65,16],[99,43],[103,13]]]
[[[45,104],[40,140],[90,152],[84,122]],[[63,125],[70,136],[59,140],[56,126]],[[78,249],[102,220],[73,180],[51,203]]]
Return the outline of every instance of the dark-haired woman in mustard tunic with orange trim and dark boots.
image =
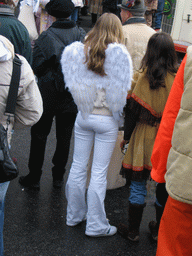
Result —
[[[121,173],[130,181],[129,227],[120,224],[118,231],[132,241],[139,240],[153,144],[177,67],[172,38],[166,33],[154,34],[128,92],[121,146],[129,145]]]

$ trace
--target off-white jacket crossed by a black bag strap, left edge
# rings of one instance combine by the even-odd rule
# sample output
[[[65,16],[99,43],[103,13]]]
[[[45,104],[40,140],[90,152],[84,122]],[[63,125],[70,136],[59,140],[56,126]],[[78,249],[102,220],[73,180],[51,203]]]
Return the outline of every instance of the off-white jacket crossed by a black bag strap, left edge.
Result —
[[[0,40],[12,55],[11,59],[8,61],[0,61],[0,122],[6,127],[7,116],[4,115],[4,112],[12,76],[14,48],[5,37],[0,36]],[[23,125],[31,126],[40,119],[43,112],[42,98],[35,82],[33,71],[24,57],[19,55],[19,58],[22,61],[21,78],[16,102],[15,118],[11,118],[8,129],[9,143],[13,126],[15,126],[15,128],[20,128]]]

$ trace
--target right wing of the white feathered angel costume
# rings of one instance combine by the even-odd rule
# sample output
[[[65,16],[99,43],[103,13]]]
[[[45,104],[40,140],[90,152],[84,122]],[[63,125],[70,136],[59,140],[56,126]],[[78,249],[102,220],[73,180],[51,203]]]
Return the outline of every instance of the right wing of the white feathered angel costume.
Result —
[[[109,44],[104,64],[109,83],[106,87],[106,101],[115,118],[123,112],[128,90],[131,89],[133,65],[124,45]]]

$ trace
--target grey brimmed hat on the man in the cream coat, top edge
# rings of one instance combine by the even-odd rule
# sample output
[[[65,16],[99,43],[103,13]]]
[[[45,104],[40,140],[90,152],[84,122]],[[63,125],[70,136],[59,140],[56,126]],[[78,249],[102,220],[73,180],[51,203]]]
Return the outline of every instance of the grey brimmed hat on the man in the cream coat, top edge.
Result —
[[[123,0],[117,6],[131,12],[133,16],[143,16],[146,10],[144,0]]]

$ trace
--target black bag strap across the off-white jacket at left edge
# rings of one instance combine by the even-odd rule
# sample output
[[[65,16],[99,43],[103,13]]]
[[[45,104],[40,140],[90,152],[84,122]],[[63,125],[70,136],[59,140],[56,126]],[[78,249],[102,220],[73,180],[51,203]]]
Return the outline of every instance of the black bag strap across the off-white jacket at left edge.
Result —
[[[10,118],[10,115],[14,116],[14,113],[15,113],[15,105],[17,101],[20,76],[21,76],[21,60],[17,55],[15,55],[13,59],[13,71],[12,71],[11,83],[9,87],[9,94],[7,97],[7,105],[5,109],[5,115],[8,115],[9,116],[8,118]]]

